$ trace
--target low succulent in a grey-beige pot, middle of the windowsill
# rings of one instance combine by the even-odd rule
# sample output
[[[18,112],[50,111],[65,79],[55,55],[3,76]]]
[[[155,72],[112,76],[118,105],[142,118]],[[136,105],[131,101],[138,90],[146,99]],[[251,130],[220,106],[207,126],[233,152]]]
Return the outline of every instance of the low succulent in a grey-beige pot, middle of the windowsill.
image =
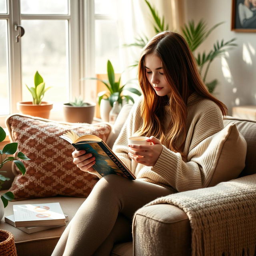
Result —
[[[95,103],[84,102],[75,98],[74,102],[64,103],[64,118],[66,122],[91,124],[94,118]]]

